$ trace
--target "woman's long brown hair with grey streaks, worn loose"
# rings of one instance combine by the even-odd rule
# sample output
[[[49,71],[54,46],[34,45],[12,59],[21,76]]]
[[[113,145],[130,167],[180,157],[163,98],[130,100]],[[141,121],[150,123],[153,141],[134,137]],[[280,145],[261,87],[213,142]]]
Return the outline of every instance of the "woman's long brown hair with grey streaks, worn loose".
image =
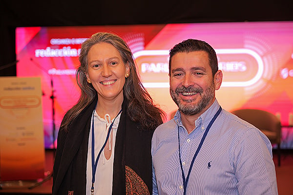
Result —
[[[112,44],[119,51],[124,63],[129,65],[130,74],[126,78],[123,88],[124,98],[128,101],[128,116],[131,120],[140,122],[141,127],[145,130],[156,128],[163,122],[164,112],[154,105],[152,98],[142,85],[137,74],[133,55],[126,42],[119,36],[106,32],[96,33],[82,44],[79,55],[81,64],[76,72],[76,80],[81,89],[81,96],[77,104],[64,116],[61,127],[68,130],[72,121],[98,96],[92,84],[86,81],[86,73],[88,71],[87,54],[94,44],[102,42]]]

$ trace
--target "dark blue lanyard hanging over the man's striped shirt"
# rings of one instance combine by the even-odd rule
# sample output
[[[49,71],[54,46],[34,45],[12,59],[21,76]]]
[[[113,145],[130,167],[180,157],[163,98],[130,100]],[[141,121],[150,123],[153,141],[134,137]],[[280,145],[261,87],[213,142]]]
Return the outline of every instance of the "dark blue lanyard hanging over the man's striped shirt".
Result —
[[[193,158],[192,158],[192,161],[191,161],[191,163],[190,163],[190,167],[189,167],[189,170],[188,170],[188,175],[187,175],[186,178],[185,178],[185,175],[184,175],[184,172],[183,172],[183,166],[182,166],[182,161],[181,161],[181,154],[180,154],[180,137],[179,137],[179,126],[178,126],[179,162],[180,162],[180,168],[181,168],[182,179],[183,179],[183,190],[184,190],[183,195],[186,195],[187,183],[188,183],[188,179],[189,179],[189,176],[190,176],[190,172],[191,172],[191,170],[192,170],[192,166],[193,166],[194,160],[195,160],[197,154],[199,153],[199,151],[200,151],[200,149],[201,149],[201,147],[202,147],[202,145],[203,145],[203,143],[204,143],[204,141],[205,141],[205,138],[207,137],[207,134],[208,134],[208,132],[209,132],[209,129],[210,129],[211,125],[212,125],[213,122],[216,120],[216,118],[219,116],[219,114],[221,113],[221,111],[222,111],[222,108],[221,108],[221,106],[220,106],[220,108],[219,108],[219,110],[217,111],[217,113],[215,114],[215,116],[214,116],[214,117],[211,119],[211,121],[209,122],[209,125],[208,125],[208,127],[207,127],[207,129],[206,129],[206,131],[205,131],[205,133],[204,133],[204,135],[203,135],[203,137],[202,137],[202,139],[200,140],[200,143],[199,143],[199,145],[198,145],[198,148],[197,148],[197,150],[196,150],[196,152],[195,152],[195,154],[194,154],[194,156],[193,156]]]

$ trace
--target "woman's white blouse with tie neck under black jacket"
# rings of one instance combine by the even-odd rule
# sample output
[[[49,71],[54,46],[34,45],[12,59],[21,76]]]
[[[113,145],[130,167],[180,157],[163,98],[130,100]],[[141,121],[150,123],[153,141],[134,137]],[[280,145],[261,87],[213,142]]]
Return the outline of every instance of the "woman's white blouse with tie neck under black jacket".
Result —
[[[110,149],[112,151],[110,158],[105,158],[104,150],[98,161],[96,175],[95,175],[95,195],[111,195],[113,182],[113,163],[114,163],[114,148],[121,114],[115,119],[112,126],[111,134],[113,133],[113,140],[110,141]],[[94,129],[95,129],[95,161],[97,156],[105,143],[108,129],[114,118],[110,118],[108,114],[104,118],[98,116],[94,110]],[[92,121],[92,118],[91,118]],[[92,122],[91,122],[92,123]],[[92,124],[90,126],[88,152],[87,152],[87,167],[86,167],[86,195],[91,195],[92,186],[92,163],[91,163],[91,148],[92,148]],[[109,137],[110,140],[110,137]]]

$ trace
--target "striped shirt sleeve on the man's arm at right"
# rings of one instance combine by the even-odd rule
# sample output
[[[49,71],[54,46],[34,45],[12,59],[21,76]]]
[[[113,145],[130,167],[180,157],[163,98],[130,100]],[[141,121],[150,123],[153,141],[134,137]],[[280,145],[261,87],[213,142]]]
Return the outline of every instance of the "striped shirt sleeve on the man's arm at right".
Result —
[[[234,150],[234,170],[239,195],[277,195],[272,144],[258,129],[251,128]]]

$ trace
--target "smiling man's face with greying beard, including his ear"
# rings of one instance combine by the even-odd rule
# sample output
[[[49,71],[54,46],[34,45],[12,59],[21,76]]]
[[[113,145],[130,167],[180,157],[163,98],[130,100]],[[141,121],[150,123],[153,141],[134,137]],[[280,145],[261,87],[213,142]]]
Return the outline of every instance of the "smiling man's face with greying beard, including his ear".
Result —
[[[177,53],[171,59],[170,68],[170,94],[179,110],[188,116],[201,115],[215,99],[222,72],[218,71],[215,78],[212,76],[205,51]]]

